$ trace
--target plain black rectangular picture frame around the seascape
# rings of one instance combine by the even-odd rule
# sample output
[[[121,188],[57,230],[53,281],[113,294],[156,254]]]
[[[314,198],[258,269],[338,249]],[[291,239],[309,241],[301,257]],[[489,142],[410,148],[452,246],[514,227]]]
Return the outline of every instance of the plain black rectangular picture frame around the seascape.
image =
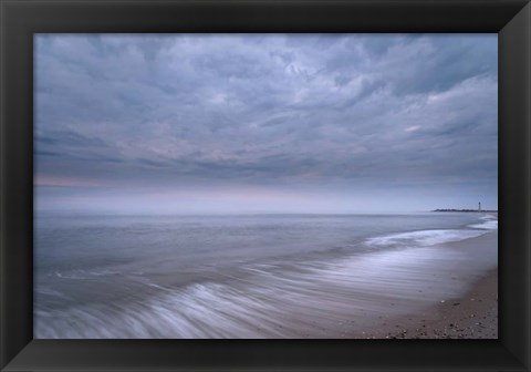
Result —
[[[525,0],[0,0],[2,371],[530,370]],[[33,340],[33,33],[496,32],[498,340]]]

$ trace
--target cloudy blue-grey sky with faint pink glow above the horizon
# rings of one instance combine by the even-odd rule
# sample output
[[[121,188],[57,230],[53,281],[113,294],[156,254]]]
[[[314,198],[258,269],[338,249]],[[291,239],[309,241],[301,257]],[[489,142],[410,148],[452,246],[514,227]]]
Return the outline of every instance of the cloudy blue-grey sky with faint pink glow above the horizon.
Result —
[[[38,34],[38,211],[498,208],[497,34]]]

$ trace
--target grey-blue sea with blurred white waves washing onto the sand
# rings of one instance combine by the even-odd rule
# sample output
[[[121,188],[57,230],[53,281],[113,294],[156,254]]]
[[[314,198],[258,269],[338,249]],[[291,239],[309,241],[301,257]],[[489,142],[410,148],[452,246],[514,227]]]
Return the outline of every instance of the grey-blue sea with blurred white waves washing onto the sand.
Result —
[[[482,213],[35,216],[35,339],[339,338],[498,262]]]

